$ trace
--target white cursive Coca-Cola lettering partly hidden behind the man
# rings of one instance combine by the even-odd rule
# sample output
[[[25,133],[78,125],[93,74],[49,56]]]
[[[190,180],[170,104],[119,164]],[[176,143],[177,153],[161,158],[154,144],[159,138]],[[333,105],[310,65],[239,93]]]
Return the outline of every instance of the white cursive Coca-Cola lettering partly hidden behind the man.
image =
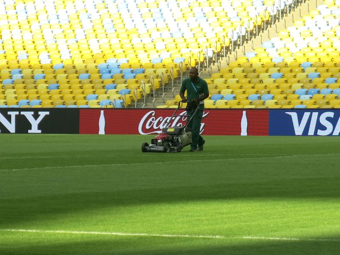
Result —
[[[159,134],[164,127],[183,127],[187,122],[186,111],[179,113],[177,116],[163,117],[156,116],[155,111],[147,112],[140,120],[138,125],[138,132],[140,134]],[[204,112],[203,118],[208,115],[208,112]],[[202,133],[204,131],[204,123],[201,123]]]

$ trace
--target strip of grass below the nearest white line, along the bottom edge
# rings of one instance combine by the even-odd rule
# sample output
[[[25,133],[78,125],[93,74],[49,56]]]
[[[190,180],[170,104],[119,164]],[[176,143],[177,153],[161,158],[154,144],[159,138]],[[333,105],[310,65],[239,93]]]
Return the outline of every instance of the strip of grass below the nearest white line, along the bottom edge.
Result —
[[[149,237],[104,237],[86,236],[82,240],[69,242],[67,237],[44,236],[39,242],[38,235],[27,237],[24,245],[9,243],[0,249],[1,254],[6,255],[94,255],[94,254],[120,254],[120,255],[263,255],[263,254],[338,254],[339,242],[323,241],[265,241],[265,240],[241,240],[238,243],[228,240],[194,240],[179,238],[149,238]],[[50,239],[49,239],[50,237]],[[28,239],[30,238],[30,239]],[[329,237],[334,239],[334,237]],[[74,239],[72,239],[74,240]]]

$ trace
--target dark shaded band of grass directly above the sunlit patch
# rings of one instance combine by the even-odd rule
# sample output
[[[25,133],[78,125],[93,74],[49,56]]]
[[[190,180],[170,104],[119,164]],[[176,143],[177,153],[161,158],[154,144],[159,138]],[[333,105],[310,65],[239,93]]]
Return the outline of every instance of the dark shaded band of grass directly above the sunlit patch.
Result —
[[[320,185],[324,183],[325,185]],[[249,198],[315,199],[339,198],[337,179],[324,178],[286,180],[244,184],[220,184],[176,188],[158,188],[132,191],[108,191],[46,195],[27,198],[0,199],[0,228],[62,214],[82,211],[158,203],[176,203],[208,200]]]

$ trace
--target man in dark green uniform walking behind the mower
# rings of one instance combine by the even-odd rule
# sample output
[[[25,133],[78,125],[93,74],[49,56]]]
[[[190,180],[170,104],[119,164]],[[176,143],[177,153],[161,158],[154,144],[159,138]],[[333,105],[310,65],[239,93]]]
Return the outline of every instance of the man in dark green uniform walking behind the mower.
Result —
[[[209,96],[209,90],[206,81],[201,79],[198,75],[198,69],[196,67],[191,67],[189,70],[189,78],[183,80],[179,92],[182,102],[193,100],[194,104],[199,107],[199,110],[188,124],[188,127],[191,127],[192,136],[190,152],[202,151],[205,142],[200,135],[200,129],[204,111],[204,99]],[[184,96],[185,91],[187,92],[187,98]],[[196,108],[187,109],[187,114],[191,116],[195,109]]]

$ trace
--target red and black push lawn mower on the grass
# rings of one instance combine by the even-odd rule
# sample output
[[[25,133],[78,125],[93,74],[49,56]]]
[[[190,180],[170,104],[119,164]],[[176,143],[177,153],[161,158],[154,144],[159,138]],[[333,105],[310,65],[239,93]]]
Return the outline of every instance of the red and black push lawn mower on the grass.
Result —
[[[173,112],[166,126],[155,138],[151,139],[151,144],[143,143],[142,152],[181,152],[184,146],[191,144],[191,128],[187,127],[189,122],[197,113],[199,107],[196,101],[187,102],[186,110],[194,110],[192,115],[176,115],[177,110],[182,107],[182,102],[178,102],[178,107]],[[172,127],[176,117],[187,117],[187,122],[183,126]]]

